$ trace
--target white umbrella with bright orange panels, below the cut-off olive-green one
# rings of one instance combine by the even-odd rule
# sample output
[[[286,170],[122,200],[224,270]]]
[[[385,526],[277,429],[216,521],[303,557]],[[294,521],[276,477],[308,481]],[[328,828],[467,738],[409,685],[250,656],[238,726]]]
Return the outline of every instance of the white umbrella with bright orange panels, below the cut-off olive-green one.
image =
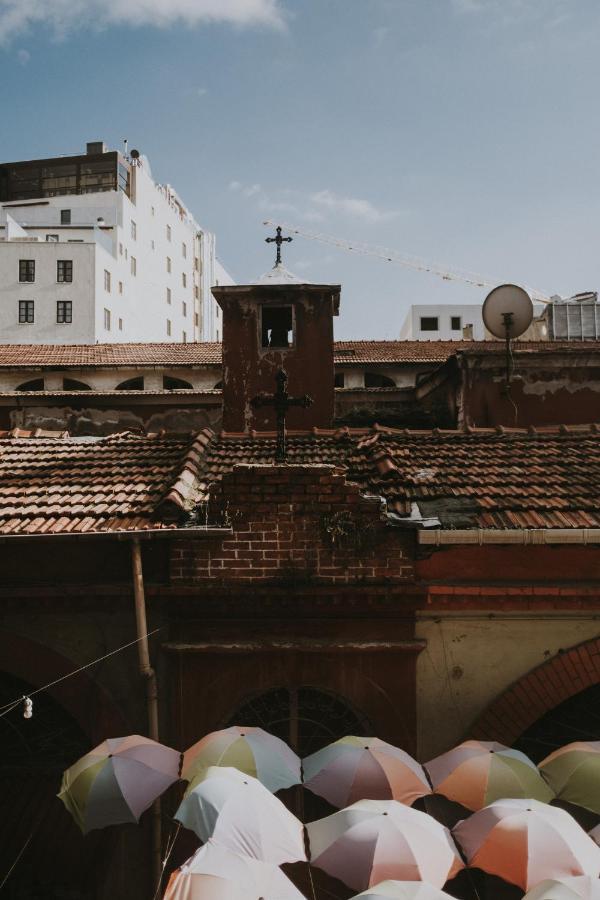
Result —
[[[548,878],[600,873],[600,848],[575,819],[536,800],[499,800],[453,832],[470,866],[524,891]]]

